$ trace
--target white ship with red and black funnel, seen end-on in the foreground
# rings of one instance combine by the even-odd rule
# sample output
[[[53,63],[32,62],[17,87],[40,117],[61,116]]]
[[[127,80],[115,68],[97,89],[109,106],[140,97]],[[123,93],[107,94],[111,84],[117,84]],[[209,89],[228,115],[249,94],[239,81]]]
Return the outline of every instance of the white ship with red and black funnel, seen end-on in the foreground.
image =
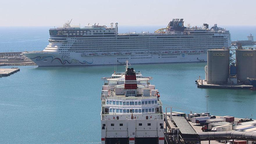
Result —
[[[101,93],[102,144],[164,144],[160,94],[152,77],[126,66],[124,73],[104,77]]]

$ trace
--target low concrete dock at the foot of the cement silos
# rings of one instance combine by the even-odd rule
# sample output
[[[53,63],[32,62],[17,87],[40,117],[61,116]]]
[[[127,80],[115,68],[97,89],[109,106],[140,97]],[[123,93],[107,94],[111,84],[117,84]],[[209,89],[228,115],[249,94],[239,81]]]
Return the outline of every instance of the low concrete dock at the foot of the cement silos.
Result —
[[[251,85],[237,84],[237,85],[217,85],[217,84],[207,84],[204,79],[196,80],[198,88],[226,88],[226,89],[250,89],[253,88]]]

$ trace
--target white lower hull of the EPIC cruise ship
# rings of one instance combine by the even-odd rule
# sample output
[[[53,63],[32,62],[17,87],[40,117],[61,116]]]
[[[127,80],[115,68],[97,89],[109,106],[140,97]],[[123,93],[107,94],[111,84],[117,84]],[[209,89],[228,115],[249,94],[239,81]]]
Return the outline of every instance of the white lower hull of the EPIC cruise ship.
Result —
[[[119,65],[125,64],[125,61],[127,60],[131,64],[207,61],[207,53],[135,54],[116,56],[81,56],[81,53],[59,54],[57,52],[26,52],[23,54],[38,66]]]

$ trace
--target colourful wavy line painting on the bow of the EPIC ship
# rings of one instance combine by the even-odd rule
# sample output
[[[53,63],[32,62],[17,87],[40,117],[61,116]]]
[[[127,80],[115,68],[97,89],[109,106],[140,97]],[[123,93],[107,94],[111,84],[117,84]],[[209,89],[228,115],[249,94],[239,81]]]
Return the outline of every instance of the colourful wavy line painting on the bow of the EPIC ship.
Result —
[[[81,63],[81,64],[93,64],[93,61],[92,62],[88,62],[88,61],[83,61],[83,62],[81,62],[81,61],[79,61],[79,60],[76,60],[76,59],[72,59],[71,61],[68,61],[68,60],[62,60],[62,59],[60,59],[60,58],[54,58],[54,56],[43,56],[43,57],[41,57],[41,56],[36,56],[36,57],[34,57],[34,58],[31,58],[31,59],[35,59],[36,61],[42,61],[42,60],[44,60],[44,59],[46,59],[46,58],[51,58],[51,63],[54,61],[54,60],[58,60],[61,64],[63,64],[63,65],[65,65],[66,63],[69,63],[69,64],[71,64],[73,61],[74,61],[74,63]]]

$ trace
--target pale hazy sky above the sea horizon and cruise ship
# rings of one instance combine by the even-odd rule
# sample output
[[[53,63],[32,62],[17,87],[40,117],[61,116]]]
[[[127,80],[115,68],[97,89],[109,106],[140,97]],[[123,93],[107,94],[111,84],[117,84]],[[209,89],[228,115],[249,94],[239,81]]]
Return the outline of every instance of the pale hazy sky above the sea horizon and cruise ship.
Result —
[[[62,26],[99,23],[255,26],[256,0],[1,0],[0,26]]]

